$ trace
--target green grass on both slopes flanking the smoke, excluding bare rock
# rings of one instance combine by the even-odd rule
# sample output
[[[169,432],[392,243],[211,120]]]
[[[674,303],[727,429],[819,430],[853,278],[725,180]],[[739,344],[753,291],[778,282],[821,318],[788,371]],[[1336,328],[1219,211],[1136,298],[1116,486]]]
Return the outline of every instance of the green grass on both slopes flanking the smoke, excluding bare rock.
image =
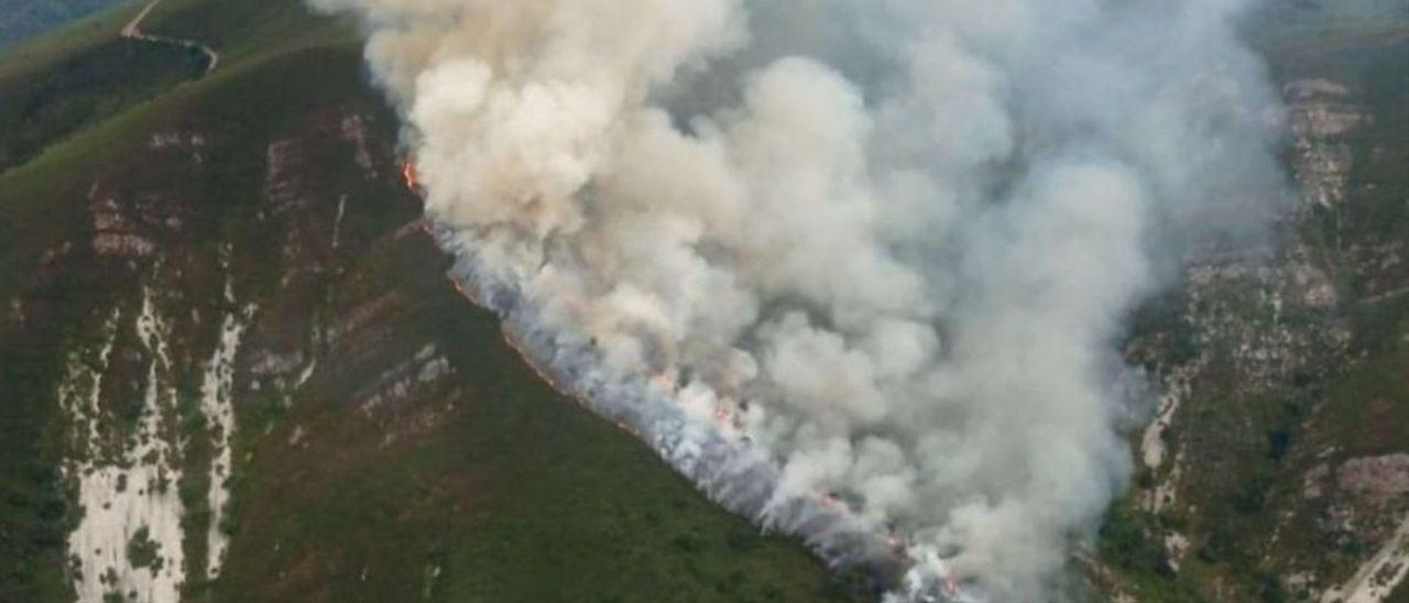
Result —
[[[207,170],[192,182],[147,166],[147,180],[124,176],[134,192],[163,186],[197,211],[190,230],[200,256],[220,241],[240,249],[241,299],[283,307],[296,331],[334,320],[352,300],[379,290],[411,292],[417,310],[368,365],[344,366],[342,380],[321,378],[290,409],[279,396],[247,396],[238,409],[235,513],[223,526],[235,535],[225,573],[192,579],[194,600],[437,600],[437,602],[826,602],[851,590],[828,576],[796,542],[762,537],[745,521],[709,504],[665,469],[640,442],[562,399],[537,379],[500,340],[493,317],[458,299],[441,276],[444,258],[426,242],[383,244],[344,256],[342,272],[320,278],[299,297],[280,287],[282,225],[255,218],[263,194],[265,149],[306,135],[306,118],[331,108],[376,116],[376,138],[395,139],[392,116],[364,83],[356,39],[348,24],[314,17],[292,0],[165,0],[148,31],[201,39],[221,52],[221,68],[192,79],[189,58],[170,49],[128,48],[114,41],[134,11],[127,4],[52,37],[6,51],[0,86],[39,99],[69,99],[27,118],[24,103],[0,108],[0,120],[32,128],[15,166],[0,173],[0,303],[24,296],[39,310],[23,330],[0,332],[0,600],[63,600],[63,537],[75,518],[56,471],[52,393],[62,358],[96,328],[93,311],[131,283],[103,273],[79,252],[52,271],[41,258],[62,241],[86,241],[86,185],[97,173],[141,156],[151,132],[190,128],[213,132]],[[1289,31],[1289,30],[1288,30]],[[1406,216],[1405,79],[1382,77],[1402,62],[1403,25],[1343,28],[1317,38],[1310,51],[1267,38],[1281,49],[1274,70],[1293,77],[1332,70],[1368,90],[1382,120],[1354,139],[1361,190],[1337,220],[1323,220],[1326,254],[1347,241],[1403,241]],[[1302,34],[1296,34],[1302,35]],[[1367,46],[1368,45],[1368,46]],[[110,51],[120,51],[113,54]],[[131,63],[131,82],[104,80],[114,62]],[[96,75],[99,77],[90,77]],[[18,87],[11,87],[18,86]],[[82,104],[92,100],[92,104]],[[18,99],[6,97],[6,99]],[[4,107],[6,99],[0,99]],[[101,103],[97,103],[101,100]],[[32,104],[32,103],[31,103]],[[20,108],[14,108],[20,107]],[[8,113],[7,113],[8,111]],[[18,139],[18,138],[17,138]],[[7,142],[8,144],[8,142]],[[345,149],[313,151],[307,176],[331,194],[359,182],[347,170]],[[340,155],[341,154],[341,155]],[[151,180],[151,182],[148,182]],[[169,180],[169,182],[168,182]],[[161,189],[166,190],[166,189]],[[351,190],[349,241],[376,240],[416,211],[395,176]],[[325,197],[325,196],[324,196]],[[324,203],[327,199],[323,200]],[[1339,273],[1354,292],[1353,271]],[[125,287],[125,289],[124,289]],[[209,287],[193,292],[214,293]],[[294,299],[297,297],[297,299]],[[294,299],[293,302],[289,302]],[[1267,320],[1247,292],[1226,300],[1247,320]],[[203,311],[210,309],[203,307]],[[1364,442],[1346,454],[1377,454],[1409,441],[1403,400],[1405,331],[1401,303],[1354,307],[1339,318],[1354,324],[1371,356],[1315,392],[1285,396],[1220,396],[1192,402],[1188,423],[1205,434],[1198,448],[1210,469],[1196,490],[1198,513],[1147,517],[1122,502],[1102,531],[1102,559],[1122,583],[1148,602],[1198,602],[1212,585],[1239,600],[1279,600],[1289,593],[1268,582],[1260,547],[1270,517],[1299,486],[1313,442]],[[321,318],[320,318],[321,317]],[[1147,317],[1175,325],[1162,310]],[[1306,317],[1306,320],[1327,320]],[[1174,328],[1174,327],[1171,327]],[[302,331],[299,331],[302,332]],[[458,371],[454,392],[423,406],[365,416],[348,406],[349,383],[375,373],[433,341]],[[1179,340],[1182,347],[1199,345]],[[193,348],[194,349],[194,348]],[[1181,354],[1189,354],[1185,349]],[[187,368],[190,369],[190,368]],[[334,369],[337,371],[337,369]],[[1236,390],[1236,375],[1224,375]],[[187,375],[189,382],[189,375]],[[193,386],[185,385],[186,410]],[[457,393],[458,392],[458,393]],[[1301,431],[1315,397],[1329,416]],[[1389,400],[1389,404],[1375,404]],[[430,431],[383,444],[435,404],[455,402]],[[1388,409],[1388,410],[1385,410]],[[1381,414],[1377,414],[1381,413]],[[187,421],[200,434],[200,421]],[[1192,427],[1191,427],[1192,425]],[[299,430],[300,445],[290,444]],[[1378,430],[1378,431],[1375,431]],[[1361,437],[1371,434],[1372,438]],[[1322,440],[1317,440],[1322,438]],[[193,461],[209,455],[197,447]],[[245,461],[247,459],[247,461]],[[206,483],[180,487],[192,502]],[[203,534],[209,510],[192,504],[186,528]],[[1195,552],[1178,575],[1162,569],[1161,528],[1178,527]],[[1315,531],[1284,541],[1286,551],[1320,551]],[[137,541],[137,551],[145,551]],[[197,559],[203,544],[189,544]],[[1285,551],[1282,551],[1285,552]],[[1279,552],[1281,554],[1281,552]],[[1341,555],[1341,552],[1334,552]],[[1348,551],[1346,552],[1348,555]],[[1323,552],[1334,571],[1341,557]],[[193,568],[189,568],[193,569]],[[1272,568],[1275,569],[1275,568]],[[1405,589],[1401,589],[1402,596]]]

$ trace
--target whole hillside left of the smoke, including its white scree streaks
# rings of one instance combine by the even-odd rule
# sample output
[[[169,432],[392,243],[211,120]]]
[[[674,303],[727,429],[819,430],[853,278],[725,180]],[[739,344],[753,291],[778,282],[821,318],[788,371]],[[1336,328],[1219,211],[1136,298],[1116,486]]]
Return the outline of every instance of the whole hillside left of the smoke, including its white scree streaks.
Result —
[[[455,293],[348,30],[137,8],[0,66],[0,600],[850,599]]]

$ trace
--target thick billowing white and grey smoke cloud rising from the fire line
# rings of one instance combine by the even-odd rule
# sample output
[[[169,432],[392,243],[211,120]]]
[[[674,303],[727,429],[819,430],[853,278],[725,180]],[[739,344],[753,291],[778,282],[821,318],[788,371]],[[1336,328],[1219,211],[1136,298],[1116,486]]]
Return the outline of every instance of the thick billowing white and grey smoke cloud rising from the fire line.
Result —
[[[314,4],[530,355],[913,590],[1051,599],[1129,473],[1124,314],[1278,183],[1239,0]]]

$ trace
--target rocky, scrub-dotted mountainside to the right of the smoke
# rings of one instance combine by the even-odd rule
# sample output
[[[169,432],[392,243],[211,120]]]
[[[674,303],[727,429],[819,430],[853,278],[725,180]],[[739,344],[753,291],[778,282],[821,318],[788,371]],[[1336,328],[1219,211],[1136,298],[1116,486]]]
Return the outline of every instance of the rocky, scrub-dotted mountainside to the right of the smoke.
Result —
[[[1112,514],[1141,544],[1102,544],[1113,596],[1409,597],[1409,89],[1364,76],[1409,46],[1348,30],[1268,51],[1298,196],[1271,244],[1192,254],[1136,317],[1127,352],[1161,397]]]

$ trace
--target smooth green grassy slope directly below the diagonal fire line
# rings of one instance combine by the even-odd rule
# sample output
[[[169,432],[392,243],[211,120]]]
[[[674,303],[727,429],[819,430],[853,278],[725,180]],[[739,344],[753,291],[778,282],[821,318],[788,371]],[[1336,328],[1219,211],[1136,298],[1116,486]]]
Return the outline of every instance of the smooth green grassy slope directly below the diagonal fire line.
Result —
[[[850,600],[795,542],[759,535],[564,400],[427,265],[445,261],[423,240],[380,247],[340,296],[411,293],[416,318],[379,345],[403,358],[434,341],[465,394],[358,420],[331,383],[272,420],[280,427],[245,444],[255,459],[217,599]],[[449,400],[431,434],[375,444]],[[300,425],[314,435],[287,444]]]

